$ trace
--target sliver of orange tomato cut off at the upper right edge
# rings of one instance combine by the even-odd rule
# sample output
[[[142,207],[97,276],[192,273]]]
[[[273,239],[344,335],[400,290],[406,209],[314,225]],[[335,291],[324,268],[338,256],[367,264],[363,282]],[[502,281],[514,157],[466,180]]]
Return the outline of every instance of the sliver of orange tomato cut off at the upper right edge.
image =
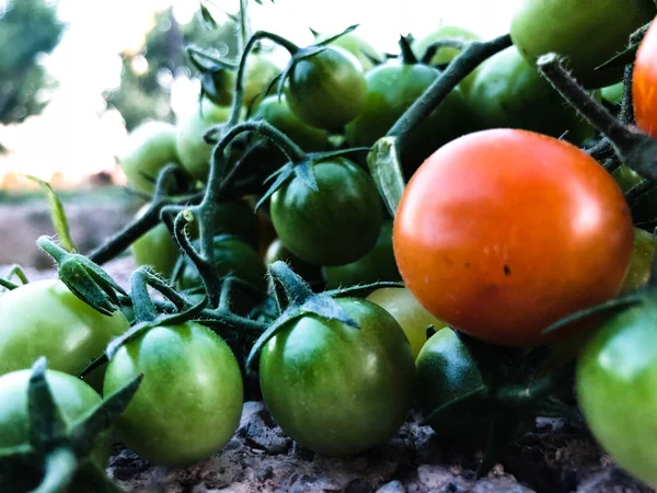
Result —
[[[636,125],[657,139],[657,21],[653,21],[636,54],[632,94]]]

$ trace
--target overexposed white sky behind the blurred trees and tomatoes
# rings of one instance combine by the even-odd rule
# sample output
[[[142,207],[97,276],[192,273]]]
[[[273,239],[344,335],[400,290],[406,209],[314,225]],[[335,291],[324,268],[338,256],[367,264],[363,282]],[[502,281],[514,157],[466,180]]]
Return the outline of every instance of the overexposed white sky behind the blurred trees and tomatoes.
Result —
[[[237,0],[214,1],[237,11]],[[396,53],[400,34],[422,37],[441,23],[468,27],[485,38],[504,34],[520,0],[275,1],[262,7],[252,1],[253,28],[306,44],[311,42],[309,26],[334,33],[359,23],[358,34],[381,50]],[[0,0],[0,5],[4,2]],[[80,175],[114,169],[114,156],[120,151],[126,130],[116,112],[103,113],[101,93],[119,83],[118,53],[139,49],[153,12],[171,4],[176,19],[185,22],[198,1],[59,1],[59,15],[68,28],[44,60],[59,88],[42,115],[20,126],[0,126],[0,141],[11,150],[10,156],[0,158],[0,180],[9,171],[49,180],[55,172]],[[174,85],[174,111],[181,113],[193,107],[197,96],[197,84],[184,82]]]

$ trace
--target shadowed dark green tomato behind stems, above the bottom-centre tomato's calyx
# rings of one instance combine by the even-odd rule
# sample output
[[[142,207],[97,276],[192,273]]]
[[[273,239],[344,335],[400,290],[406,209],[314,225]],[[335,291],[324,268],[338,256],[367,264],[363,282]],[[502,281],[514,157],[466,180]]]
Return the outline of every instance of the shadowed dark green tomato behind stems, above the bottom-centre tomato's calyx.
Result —
[[[263,260],[245,241],[230,237],[217,237],[215,239],[215,262],[219,277],[233,275],[266,290],[266,271]],[[203,285],[196,266],[188,259],[185,259],[178,285],[181,289],[194,289]]]

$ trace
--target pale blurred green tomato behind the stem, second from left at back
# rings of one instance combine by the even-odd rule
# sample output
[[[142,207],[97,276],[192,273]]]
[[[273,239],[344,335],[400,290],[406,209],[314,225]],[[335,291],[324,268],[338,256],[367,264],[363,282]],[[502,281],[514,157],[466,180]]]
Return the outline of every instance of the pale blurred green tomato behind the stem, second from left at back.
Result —
[[[178,122],[175,144],[181,164],[196,180],[206,181],[210,170],[212,146],[204,135],[210,127],[224,123],[230,116],[229,106],[218,106],[204,99],[186,119]]]

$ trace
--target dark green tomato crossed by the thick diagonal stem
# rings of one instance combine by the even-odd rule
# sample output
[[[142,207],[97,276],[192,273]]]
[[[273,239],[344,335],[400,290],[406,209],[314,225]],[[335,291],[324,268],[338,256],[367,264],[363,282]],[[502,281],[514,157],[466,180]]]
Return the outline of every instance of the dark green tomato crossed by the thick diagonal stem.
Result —
[[[371,146],[383,137],[439,74],[438,69],[427,65],[406,65],[397,60],[368,72],[365,106],[346,128],[349,146]],[[469,128],[465,100],[457,88],[408,139],[402,154],[406,175],[410,176],[436,149],[468,133]]]

